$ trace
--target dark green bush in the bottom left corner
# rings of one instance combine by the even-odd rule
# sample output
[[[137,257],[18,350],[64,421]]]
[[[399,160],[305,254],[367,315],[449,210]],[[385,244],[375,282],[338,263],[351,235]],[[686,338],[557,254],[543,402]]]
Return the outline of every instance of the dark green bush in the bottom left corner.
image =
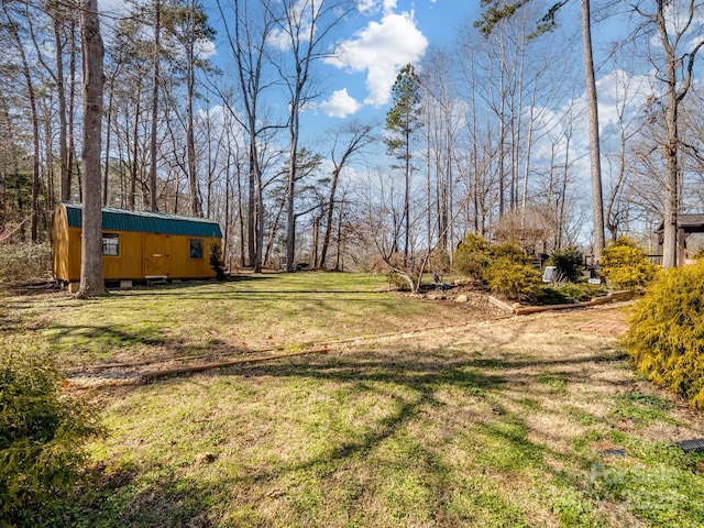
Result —
[[[36,526],[73,488],[86,441],[103,432],[86,405],[61,394],[63,377],[45,353],[0,341],[0,518]]]

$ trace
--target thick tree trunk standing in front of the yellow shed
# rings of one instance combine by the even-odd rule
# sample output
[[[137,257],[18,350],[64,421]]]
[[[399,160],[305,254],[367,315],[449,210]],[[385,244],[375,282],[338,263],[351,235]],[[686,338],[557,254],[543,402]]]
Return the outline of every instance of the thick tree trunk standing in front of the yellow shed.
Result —
[[[80,2],[82,50],[82,235],[80,262],[81,298],[105,294],[102,277],[102,211],[100,204],[100,146],[102,125],[103,47],[98,0]]]

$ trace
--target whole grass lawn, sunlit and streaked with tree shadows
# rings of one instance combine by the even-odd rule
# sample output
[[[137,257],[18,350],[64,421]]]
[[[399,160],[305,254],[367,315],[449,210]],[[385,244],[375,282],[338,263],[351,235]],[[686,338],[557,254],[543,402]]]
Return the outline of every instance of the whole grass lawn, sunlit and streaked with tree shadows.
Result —
[[[704,526],[704,454],[672,444],[704,437],[702,415],[582,330],[623,308],[486,320],[384,286],[301,273],[0,299],[6,343],[72,369],[384,334],[75,393],[109,436],[57,526]]]

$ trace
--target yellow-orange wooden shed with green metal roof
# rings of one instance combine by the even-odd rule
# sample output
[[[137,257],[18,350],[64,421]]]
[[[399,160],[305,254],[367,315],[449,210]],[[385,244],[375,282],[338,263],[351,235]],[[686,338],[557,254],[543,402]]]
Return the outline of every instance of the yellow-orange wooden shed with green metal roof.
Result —
[[[54,211],[54,277],[80,280],[81,205]],[[102,208],[102,273],[106,280],[211,278],[209,245],[221,244],[212,220],[163,212]]]

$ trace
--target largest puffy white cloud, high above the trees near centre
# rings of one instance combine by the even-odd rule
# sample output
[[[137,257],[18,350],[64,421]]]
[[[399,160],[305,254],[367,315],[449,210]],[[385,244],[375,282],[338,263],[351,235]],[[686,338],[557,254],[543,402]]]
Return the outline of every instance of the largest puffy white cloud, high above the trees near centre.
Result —
[[[384,3],[395,6],[393,0]],[[398,69],[416,63],[427,47],[428,40],[416,28],[413,13],[388,13],[351,40],[338,43],[336,57],[327,62],[351,72],[366,72],[369,96],[364,102],[380,107],[388,102]]]

